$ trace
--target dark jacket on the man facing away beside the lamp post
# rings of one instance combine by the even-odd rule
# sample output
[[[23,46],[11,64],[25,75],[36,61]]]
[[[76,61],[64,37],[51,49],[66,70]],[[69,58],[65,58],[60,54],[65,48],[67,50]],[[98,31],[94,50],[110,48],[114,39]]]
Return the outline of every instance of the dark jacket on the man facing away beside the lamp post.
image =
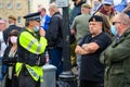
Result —
[[[60,12],[52,15],[46,37],[48,47],[63,47],[63,17]]]

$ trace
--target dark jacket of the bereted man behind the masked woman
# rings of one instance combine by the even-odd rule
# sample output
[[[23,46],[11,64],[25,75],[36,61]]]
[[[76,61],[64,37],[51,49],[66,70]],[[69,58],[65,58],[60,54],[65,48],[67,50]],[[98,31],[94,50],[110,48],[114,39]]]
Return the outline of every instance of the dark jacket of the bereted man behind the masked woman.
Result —
[[[8,42],[8,35],[12,29],[21,30],[22,28],[16,25],[10,25],[5,30],[3,30],[3,39],[5,44]]]

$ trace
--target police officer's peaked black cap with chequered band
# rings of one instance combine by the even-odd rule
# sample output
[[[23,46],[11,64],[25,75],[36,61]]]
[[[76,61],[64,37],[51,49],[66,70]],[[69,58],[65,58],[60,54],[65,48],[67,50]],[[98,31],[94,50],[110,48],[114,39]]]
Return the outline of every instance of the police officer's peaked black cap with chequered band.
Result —
[[[40,12],[30,13],[24,16],[26,21],[40,21]]]

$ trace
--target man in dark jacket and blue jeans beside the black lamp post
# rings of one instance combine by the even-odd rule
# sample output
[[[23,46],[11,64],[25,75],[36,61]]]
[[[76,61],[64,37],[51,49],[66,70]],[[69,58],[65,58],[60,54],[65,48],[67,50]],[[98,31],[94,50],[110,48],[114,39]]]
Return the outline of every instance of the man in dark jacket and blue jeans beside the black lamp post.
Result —
[[[49,11],[51,21],[46,37],[48,39],[50,63],[57,67],[56,75],[58,76],[63,71],[63,17],[55,3],[50,4]]]

